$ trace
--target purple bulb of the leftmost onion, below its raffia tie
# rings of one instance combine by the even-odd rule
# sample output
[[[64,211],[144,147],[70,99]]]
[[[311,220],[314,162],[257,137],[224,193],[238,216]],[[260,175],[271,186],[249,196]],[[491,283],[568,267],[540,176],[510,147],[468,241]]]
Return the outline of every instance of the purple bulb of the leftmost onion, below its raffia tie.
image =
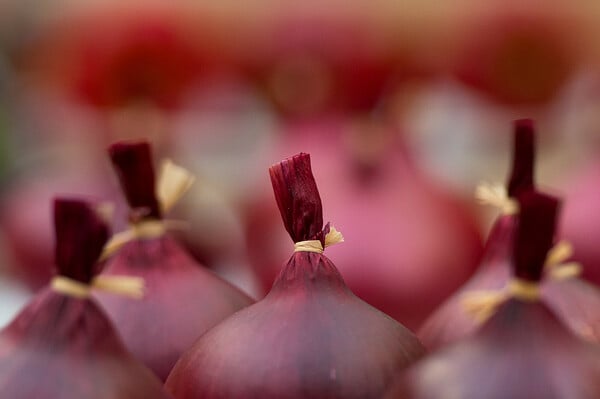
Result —
[[[38,296],[0,333],[0,392],[14,399],[167,399],[90,300]]]

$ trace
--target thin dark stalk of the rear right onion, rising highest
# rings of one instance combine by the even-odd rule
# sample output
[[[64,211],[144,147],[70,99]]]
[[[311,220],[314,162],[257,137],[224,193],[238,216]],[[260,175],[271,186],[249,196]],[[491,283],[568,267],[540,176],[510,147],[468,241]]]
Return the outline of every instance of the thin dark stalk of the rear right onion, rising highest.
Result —
[[[508,180],[508,196],[534,188],[535,129],[531,119],[514,121],[512,171]]]

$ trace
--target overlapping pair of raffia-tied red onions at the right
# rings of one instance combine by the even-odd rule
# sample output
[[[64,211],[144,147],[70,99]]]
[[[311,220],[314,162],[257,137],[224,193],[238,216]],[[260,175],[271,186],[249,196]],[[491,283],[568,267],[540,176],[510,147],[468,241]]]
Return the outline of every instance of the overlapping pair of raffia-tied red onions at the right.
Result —
[[[399,375],[386,398],[600,394],[600,293],[578,278],[579,264],[561,263],[568,244],[552,247],[561,201],[535,189],[534,154],[532,121],[516,121],[510,198],[501,187],[480,191],[504,210],[484,263],[425,323],[419,336],[434,353]]]

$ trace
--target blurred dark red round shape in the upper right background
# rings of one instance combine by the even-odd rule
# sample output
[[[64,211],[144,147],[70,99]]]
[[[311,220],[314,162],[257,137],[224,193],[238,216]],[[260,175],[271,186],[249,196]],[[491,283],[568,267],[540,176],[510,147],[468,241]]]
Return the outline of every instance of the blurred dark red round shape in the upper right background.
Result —
[[[527,5],[525,5],[527,7]],[[466,20],[450,61],[464,83],[505,104],[551,101],[577,66],[577,29],[559,7],[488,2]]]

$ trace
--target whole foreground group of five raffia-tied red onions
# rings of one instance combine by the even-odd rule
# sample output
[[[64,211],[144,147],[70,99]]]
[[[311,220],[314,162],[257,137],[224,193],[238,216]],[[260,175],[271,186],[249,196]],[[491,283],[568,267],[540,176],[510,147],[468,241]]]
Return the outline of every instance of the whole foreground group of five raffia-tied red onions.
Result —
[[[577,278],[579,265],[561,263],[570,257],[568,246],[551,250],[560,200],[534,187],[531,120],[515,123],[507,193],[498,187],[480,192],[504,211],[484,266],[420,332],[429,349],[461,341],[424,359],[419,338],[356,297],[323,255],[343,237],[331,224],[323,226],[308,154],[269,169],[295,249],[270,292],[255,304],[168,235],[180,224],[163,216],[189,188],[191,175],[169,161],[157,184],[147,142],[116,143],[109,154],[131,208],[130,227],[105,245],[108,228],[100,208],[81,200],[55,203],[59,274],[0,333],[0,364],[6,364],[0,377],[2,370],[8,373],[0,383],[13,397],[600,394],[600,349],[581,339],[597,341],[600,294]],[[99,258],[103,271],[95,276]],[[114,329],[91,299],[94,288],[137,297],[94,292]],[[477,313],[467,314],[465,304]],[[47,373],[49,362],[58,365],[50,378],[23,383],[28,370]],[[486,370],[490,364],[495,371]],[[545,375],[561,378],[540,383]],[[160,379],[166,380],[164,391]]]

